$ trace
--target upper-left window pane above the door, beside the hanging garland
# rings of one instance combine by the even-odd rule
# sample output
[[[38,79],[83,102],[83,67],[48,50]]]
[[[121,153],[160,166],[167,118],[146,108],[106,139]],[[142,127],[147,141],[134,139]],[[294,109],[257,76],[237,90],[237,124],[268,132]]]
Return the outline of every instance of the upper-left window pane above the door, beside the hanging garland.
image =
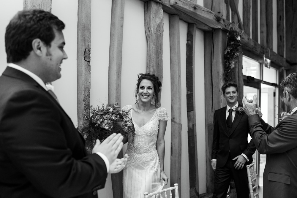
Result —
[[[252,76],[260,79],[260,63],[247,56],[242,57],[242,73],[246,76]]]

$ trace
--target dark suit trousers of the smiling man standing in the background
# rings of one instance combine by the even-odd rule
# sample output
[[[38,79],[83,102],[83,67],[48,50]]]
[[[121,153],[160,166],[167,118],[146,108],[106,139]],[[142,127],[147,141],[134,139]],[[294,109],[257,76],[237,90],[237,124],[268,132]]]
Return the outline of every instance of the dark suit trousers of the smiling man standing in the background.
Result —
[[[236,194],[238,198],[249,198],[249,182],[247,178],[247,168],[237,170],[234,167],[236,160],[232,160],[230,153],[224,167],[216,167],[214,177],[213,198],[225,198],[228,192],[231,179],[234,179]]]

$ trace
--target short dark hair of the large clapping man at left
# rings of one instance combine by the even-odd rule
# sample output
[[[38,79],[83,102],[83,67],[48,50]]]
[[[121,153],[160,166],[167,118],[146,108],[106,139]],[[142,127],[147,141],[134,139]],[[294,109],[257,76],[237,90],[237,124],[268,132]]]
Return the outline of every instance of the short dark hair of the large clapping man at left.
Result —
[[[7,63],[26,59],[33,50],[32,41],[39,38],[45,45],[55,39],[55,28],[62,31],[65,24],[58,17],[40,9],[18,12],[9,22],[5,32]]]

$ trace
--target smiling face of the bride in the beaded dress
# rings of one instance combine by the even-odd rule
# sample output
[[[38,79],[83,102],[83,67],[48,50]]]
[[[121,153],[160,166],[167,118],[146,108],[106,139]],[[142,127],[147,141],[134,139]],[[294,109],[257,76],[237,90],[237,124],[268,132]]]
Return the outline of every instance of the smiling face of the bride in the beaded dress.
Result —
[[[143,79],[138,88],[139,101],[151,102],[154,97],[154,85],[150,80]]]

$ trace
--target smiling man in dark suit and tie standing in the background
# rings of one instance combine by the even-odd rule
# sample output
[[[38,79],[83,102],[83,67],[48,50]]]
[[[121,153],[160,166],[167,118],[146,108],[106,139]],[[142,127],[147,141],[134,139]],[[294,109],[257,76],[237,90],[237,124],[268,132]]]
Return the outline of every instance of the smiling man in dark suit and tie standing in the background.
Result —
[[[247,137],[248,116],[238,104],[236,83],[222,86],[227,106],[214,112],[214,137],[211,166],[215,170],[213,198],[225,198],[231,178],[234,179],[237,197],[248,198],[249,188],[246,165],[251,164],[256,147]]]

